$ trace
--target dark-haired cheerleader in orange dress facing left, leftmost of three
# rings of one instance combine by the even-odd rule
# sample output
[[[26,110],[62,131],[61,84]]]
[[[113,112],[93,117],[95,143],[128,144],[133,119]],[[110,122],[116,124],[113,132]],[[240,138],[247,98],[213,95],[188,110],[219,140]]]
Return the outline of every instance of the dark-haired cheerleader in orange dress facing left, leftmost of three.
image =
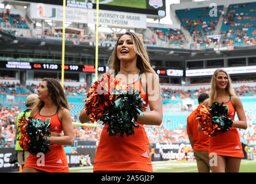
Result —
[[[44,164],[37,164],[37,155],[29,154],[22,172],[67,173],[68,162],[63,145],[73,143],[73,127],[67,97],[57,79],[44,78],[37,90],[40,101],[32,109],[30,116],[49,121],[51,124],[50,152],[44,154]],[[63,134],[60,133],[63,131]]]

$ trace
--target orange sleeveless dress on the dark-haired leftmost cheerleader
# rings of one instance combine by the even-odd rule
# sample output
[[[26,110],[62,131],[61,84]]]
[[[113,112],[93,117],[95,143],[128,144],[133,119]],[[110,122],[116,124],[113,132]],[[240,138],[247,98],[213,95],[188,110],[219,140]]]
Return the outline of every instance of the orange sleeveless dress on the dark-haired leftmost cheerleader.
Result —
[[[36,114],[35,119],[41,119],[42,121],[49,121],[51,124],[51,131],[60,133],[62,132],[62,123],[58,117],[58,110],[52,116],[41,116],[40,111]],[[50,145],[51,151],[46,154],[29,154],[25,167],[36,168],[37,170],[46,171],[49,173],[68,173],[67,156],[64,151],[63,145],[52,144]]]

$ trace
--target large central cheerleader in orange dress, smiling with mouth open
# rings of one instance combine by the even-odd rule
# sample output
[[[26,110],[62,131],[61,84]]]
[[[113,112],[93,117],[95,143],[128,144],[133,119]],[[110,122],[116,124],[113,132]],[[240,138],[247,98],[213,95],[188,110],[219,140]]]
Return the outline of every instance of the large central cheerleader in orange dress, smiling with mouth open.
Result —
[[[140,96],[150,106],[150,111],[138,116],[134,134],[109,136],[105,125],[94,159],[94,172],[152,172],[148,137],[143,125],[161,125],[162,99],[158,75],[151,68],[146,49],[137,34],[127,32],[117,40],[110,57],[110,72],[127,85],[141,91]],[[79,115],[84,123],[90,121],[85,109]]]

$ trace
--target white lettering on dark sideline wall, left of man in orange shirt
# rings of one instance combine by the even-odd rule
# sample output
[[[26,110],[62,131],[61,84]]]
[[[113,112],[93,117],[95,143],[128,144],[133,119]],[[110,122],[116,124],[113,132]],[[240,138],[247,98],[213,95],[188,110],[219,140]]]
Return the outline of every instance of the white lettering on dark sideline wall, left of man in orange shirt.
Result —
[[[184,147],[191,149],[191,145],[185,143],[156,143],[155,150],[159,150],[159,152],[155,155],[155,159],[182,160],[185,158]],[[193,158],[193,152],[188,152],[188,156]]]

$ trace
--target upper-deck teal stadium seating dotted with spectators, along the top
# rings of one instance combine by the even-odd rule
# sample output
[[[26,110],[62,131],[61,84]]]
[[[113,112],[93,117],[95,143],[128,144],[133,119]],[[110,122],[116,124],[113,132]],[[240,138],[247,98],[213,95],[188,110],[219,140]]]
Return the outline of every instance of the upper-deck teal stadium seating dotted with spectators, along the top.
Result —
[[[217,6],[217,17],[209,16],[209,13],[211,12],[211,8],[209,7],[177,9],[175,10],[175,13],[181,22],[181,26],[188,30],[193,41],[188,42],[189,39],[186,38],[181,29],[148,26],[147,29],[150,29],[156,34],[158,40],[164,41],[166,44],[158,43],[155,37],[148,38],[143,35],[144,43],[169,48],[185,48],[184,45],[186,44],[190,45],[190,49],[192,50],[224,46],[255,45],[256,2],[229,5],[225,15],[223,14],[223,9],[223,5]],[[223,37],[221,37],[219,42],[215,42],[213,44],[213,40],[209,39],[208,36],[215,32],[216,25],[220,20],[221,14],[223,14],[224,20],[221,25],[220,32],[216,34],[221,34]],[[1,31],[13,36],[23,35],[16,28],[29,29],[29,25],[26,23],[25,18],[20,14],[10,14],[2,11],[0,13]],[[94,35],[93,32],[91,32],[91,34]],[[91,34],[66,33],[66,40],[72,41],[74,44],[78,44],[79,42],[92,42],[95,40],[95,37],[91,36]],[[100,32],[99,35],[101,42],[115,43],[117,40],[116,33]],[[36,32],[35,35],[32,31],[30,36],[36,39],[43,38],[62,40],[61,30],[51,28],[45,28],[43,32],[40,30],[39,32]],[[148,41],[148,39],[150,40]]]

